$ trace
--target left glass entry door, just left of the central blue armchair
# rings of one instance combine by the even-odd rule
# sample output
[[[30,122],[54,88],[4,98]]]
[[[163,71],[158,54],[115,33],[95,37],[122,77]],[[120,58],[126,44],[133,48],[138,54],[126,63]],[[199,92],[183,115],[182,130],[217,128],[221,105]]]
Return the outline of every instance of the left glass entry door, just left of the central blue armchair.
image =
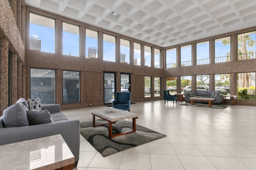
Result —
[[[104,105],[111,105],[115,99],[116,73],[104,73]]]

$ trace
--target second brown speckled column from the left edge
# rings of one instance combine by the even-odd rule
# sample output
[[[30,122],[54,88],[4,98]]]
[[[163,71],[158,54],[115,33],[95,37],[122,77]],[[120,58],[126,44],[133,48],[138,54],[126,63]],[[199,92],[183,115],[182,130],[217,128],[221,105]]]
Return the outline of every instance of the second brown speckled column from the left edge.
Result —
[[[18,100],[17,57],[16,53],[12,54],[12,105]]]

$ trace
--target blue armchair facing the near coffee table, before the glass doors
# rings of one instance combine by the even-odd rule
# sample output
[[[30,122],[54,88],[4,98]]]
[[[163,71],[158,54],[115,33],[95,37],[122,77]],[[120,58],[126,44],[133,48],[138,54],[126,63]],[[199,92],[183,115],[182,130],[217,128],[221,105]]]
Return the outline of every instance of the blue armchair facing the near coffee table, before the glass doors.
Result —
[[[129,111],[131,109],[131,92],[116,92],[113,108]]]

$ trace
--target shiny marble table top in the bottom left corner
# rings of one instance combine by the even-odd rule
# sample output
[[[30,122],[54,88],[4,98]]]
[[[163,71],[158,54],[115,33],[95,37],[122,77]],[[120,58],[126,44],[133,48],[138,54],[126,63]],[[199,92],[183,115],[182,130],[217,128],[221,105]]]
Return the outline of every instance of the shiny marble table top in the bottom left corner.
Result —
[[[58,169],[74,164],[74,155],[60,134],[0,146],[4,170]]]

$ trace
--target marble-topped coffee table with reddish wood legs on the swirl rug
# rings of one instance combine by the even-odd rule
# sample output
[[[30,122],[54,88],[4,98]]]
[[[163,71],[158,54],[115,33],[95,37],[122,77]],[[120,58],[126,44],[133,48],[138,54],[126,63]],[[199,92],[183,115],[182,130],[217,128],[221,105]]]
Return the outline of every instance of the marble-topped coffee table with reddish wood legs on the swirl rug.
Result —
[[[114,109],[115,110],[114,113],[108,114],[104,110],[105,109],[92,110],[92,126],[93,127],[99,127],[99,126],[108,127],[108,136],[110,138],[120,136],[123,134],[127,134],[127,133],[136,132],[136,119],[138,119],[138,114],[128,112],[128,111],[123,111],[120,109]],[[99,117],[105,121],[108,121],[108,123],[95,125],[95,116]],[[120,131],[120,130],[112,127],[112,124],[116,123],[117,121],[124,120],[124,119],[132,119],[132,130],[131,131]],[[113,129],[118,133],[112,134]]]

